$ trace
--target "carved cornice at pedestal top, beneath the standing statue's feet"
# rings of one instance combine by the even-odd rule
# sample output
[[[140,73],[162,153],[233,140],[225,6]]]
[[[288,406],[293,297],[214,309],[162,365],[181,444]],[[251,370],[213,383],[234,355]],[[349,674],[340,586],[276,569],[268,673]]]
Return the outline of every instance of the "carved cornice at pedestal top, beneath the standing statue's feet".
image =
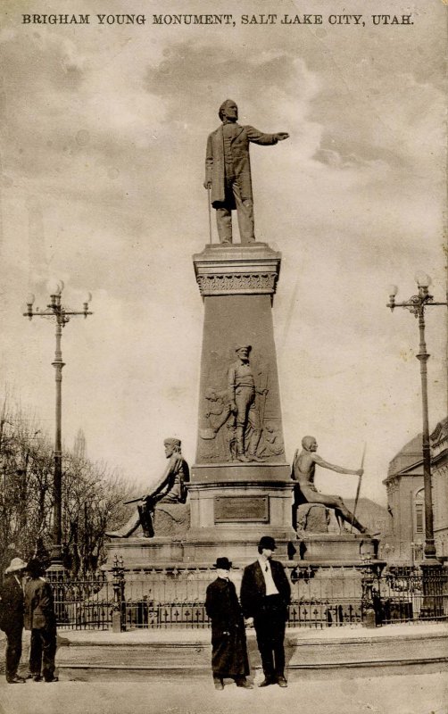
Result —
[[[193,262],[203,297],[275,295],[281,255],[266,243],[206,245]]]

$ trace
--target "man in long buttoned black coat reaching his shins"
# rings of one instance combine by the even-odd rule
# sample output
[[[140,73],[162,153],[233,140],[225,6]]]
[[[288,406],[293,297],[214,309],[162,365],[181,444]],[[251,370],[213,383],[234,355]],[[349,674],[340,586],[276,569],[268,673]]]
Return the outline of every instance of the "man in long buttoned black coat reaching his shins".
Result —
[[[232,563],[217,558],[218,577],[207,587],[205,610],[212,620],[212,672],[216,689],[224,688],[224,678],[235,679],[236,686],[252,689],[246,680],[249,660],[245,643],[245,620],[235,585],[229,579]]]

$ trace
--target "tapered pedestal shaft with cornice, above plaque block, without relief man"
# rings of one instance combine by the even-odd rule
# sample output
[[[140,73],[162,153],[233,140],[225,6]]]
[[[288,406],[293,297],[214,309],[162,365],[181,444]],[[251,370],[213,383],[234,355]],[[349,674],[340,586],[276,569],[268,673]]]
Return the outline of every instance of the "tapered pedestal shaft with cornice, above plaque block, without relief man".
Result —
[[[236,345],[252,347],[255,407],[262,428],[256,452],[263,463],[285,463],[271,310],[280,253],[263,243],[207,245],[193,262],[204,303],[196,464],[235,461],[235,415],[225,417]],[[249,442],[251,436],[246,435]]]

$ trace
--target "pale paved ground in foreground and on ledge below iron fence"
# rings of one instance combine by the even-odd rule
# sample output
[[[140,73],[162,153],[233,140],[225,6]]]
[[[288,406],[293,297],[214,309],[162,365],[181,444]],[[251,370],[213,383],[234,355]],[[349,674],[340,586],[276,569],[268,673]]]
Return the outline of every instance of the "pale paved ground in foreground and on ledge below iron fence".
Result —
[[[392,626],[391,626],[392,627]],[[295,632],[299,639],[330,643],[341,636],[365,639],[369,637],[422,636],[422,655],[425,636],[439,633],[448,635],[446,625],[400,625],[375,630],[365,628],[334,628],[320,631]],[[0,633],[0,640],[3,633]],[[71,641],[92,638],[89,633],[60,631]],[[209,631],[188,631],[184,635],[196,641],[209,640]],[[110,632],[94,633],[104,642],[141,641],[150,646],[154,640],[178,640],[179,632],[133,631],[119,635]],[[29,633],[24,635],[27,652]],[[0,642],[0,671],[4,657]],[[448,652],[448,636],[447,636]],[[25,654],[25,653],[24,653]],[[26,661],[26,654],[24,656]],[[57,659],[56,659],[57,662]],[[94,664],[94,663],[93,663]],[[26,665],[23,665],[26,667]],[[73,672],[73,670],[71,670]],[[54,684],[27,682],[26,685],[7,685],[0,674],[0,714],[448,714],[448,667],[445,663],[411,668],[369,668],[356,676],[350,669],[306,671],[295,673],[287,689],[277,685],[253,691],[236,689],[228,683],[223,692],[216,692],[212,677],[199,672],[194,677],[173,677],[132,671],[82,670],[79,675],[61,671],[60,682]],[[261,673],[256,673],[255,685]]]

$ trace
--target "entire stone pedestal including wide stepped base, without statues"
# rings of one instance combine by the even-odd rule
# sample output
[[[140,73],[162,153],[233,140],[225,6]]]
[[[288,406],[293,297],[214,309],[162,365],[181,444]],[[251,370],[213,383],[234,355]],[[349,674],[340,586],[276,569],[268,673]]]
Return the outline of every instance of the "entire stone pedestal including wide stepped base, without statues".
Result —
[[[280,253],[263,243],[206,245],[193,256],[204,319],[196,458],[188,485],[189,526],[187,519],[165,513],[168,532],[159,530],[156,518],[155,538],[112,541],[110,562],[120,554],[129,569],[196,568],[199,572],[210,569],[217,557],[227,556],[242,567],[257,557],[261,535],[275,538],[278,558],[305,568],[356,565],[376,557],[377,542],[372,539],[325,532],[328,516],[322,507],[305,506],[305,521],[312,527],[319,514],[319,531],[324,532],[315,528],[310,532],[307,526],[297,537],[292,527],[294,482],[283,443],[272,321],[280,261]],[[236,410],[231,406],[230,370],[238,360],[237,345],[251,345],[249,364],[255,385],[244,461],[236,450]]]

